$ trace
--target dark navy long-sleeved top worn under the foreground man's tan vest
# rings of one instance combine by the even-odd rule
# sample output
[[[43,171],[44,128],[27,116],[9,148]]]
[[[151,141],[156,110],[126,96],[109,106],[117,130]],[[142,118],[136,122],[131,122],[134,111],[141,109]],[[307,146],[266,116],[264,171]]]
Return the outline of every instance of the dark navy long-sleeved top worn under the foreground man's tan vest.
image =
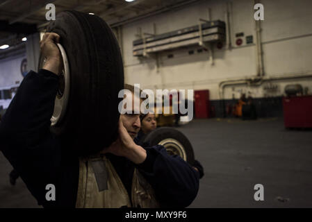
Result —
[[[43,207],[75,207],[79,157],[63,147],[49,130],[58,76],[45,69],[30,71],[19,86],[0,124],[0,150],[31,194]],[[162,207],[187,207],[197,196],[199,173],[178,156],[167,155],[163,146],[145,147],[147,159],[134,164],[108,154],[130,193],[135,167],[154,188]],[[56,200],[47,201],[46,185],[56,187]]]

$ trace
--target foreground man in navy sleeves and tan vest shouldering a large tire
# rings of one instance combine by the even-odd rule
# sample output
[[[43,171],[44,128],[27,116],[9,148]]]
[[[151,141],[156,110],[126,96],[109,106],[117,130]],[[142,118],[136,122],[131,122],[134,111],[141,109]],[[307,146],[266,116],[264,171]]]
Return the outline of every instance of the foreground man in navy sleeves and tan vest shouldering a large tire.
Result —
[[[0,126],[1,151],[43,207],[187,207],[199,189],[199,173],[163,146],[133,142],[139,114],[122,114],[118,139],[94,155],[81,156],[50,133],[62,67],[56,33],[40,47],[47,59],[22,81]],[[117,99],[117,98],[116,98]],[[110,117],[103,117],[109,119]],[[47,185],[56,199],[47,198]]]

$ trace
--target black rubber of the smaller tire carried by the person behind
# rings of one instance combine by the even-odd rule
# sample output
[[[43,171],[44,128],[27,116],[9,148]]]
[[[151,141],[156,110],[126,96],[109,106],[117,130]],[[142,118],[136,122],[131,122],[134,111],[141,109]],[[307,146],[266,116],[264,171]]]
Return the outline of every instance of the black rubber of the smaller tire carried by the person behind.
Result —
[[[183,146],[183,150],[186,153],[186,161],[189,164],[194,164],[195,157],[192,145],[188,138],[183,135],[179,130],[170,127],[160,127],[156,130],[151,131],[148,135],[141,139],[141,142],[144,144],[149,144],[150,146],[155,146],[159,144],[164,139],[175,139],[180,142]]]

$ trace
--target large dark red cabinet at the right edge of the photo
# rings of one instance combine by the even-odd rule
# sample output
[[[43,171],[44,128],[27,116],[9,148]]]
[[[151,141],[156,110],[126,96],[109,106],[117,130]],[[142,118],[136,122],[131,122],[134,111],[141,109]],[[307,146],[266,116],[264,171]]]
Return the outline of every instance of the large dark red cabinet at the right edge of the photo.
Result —
[[[283,98],[286,128],[312,128],[312,96]]]

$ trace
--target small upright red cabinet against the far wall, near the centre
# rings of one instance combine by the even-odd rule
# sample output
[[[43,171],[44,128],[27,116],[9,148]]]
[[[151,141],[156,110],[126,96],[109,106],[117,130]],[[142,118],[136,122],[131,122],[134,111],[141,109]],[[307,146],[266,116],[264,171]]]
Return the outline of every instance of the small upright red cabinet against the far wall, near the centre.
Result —
[[[195,117],[209,118],[209,90],[195,90]]]

